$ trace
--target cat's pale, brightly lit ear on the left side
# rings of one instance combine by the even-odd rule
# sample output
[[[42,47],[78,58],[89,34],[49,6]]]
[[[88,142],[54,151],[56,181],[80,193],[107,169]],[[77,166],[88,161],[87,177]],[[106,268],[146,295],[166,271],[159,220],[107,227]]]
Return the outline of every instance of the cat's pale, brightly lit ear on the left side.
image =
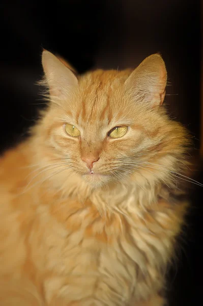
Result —
[[[42,66],[51,96],[65,98],[77,87],[75,74],[47,50],[42,53]]]

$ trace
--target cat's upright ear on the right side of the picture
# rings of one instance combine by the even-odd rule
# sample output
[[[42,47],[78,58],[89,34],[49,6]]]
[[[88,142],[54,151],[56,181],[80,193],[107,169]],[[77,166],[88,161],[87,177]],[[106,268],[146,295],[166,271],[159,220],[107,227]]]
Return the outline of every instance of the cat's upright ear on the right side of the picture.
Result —
[[[167,72],[159,54],[147,57],[128,77],[125,87],[129,92],[148,101],[152,107],[162,105],[165,97]]]

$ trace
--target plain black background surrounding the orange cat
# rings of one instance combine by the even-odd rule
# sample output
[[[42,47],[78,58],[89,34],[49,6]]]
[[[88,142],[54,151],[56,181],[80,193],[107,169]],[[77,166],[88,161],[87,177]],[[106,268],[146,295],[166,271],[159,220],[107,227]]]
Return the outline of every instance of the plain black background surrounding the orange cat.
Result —
[[[200,1],[2,1],[0,5],[1,150],[18,143],[43,107],[35,82],[42,48],[79,73],[136,67],[161,53],[168,70],[166,105],[190,130],[198,161],[200,131]],[[197,305],[203,290],[202,191],[191,186],[192,210],[179,261],[166,286],[170,305]],[[201,294],[201,295],[200,295]],[[202,300],[201,300],[202,302]],[[200,302],[200,303],[201,303]]]

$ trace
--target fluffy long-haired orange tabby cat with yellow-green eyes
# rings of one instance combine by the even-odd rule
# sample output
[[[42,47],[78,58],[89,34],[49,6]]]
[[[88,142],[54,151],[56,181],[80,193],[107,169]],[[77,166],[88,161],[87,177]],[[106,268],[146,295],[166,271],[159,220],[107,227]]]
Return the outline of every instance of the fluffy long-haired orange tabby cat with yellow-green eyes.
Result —
[[[162,105],[162,57],[77,76],[44,50],[42,65],[47,109],[0,161],[1,306],[165,305],[190,137]]]

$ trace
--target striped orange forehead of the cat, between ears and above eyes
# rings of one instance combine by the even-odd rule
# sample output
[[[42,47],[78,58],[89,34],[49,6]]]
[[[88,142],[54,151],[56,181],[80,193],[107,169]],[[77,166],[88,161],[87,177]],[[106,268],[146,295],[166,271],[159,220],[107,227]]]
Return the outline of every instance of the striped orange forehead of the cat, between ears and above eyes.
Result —
[[[130,70],[96,70],[79,80],[76,120],[79,124],[108,124],[122,115],[123,85]]]

